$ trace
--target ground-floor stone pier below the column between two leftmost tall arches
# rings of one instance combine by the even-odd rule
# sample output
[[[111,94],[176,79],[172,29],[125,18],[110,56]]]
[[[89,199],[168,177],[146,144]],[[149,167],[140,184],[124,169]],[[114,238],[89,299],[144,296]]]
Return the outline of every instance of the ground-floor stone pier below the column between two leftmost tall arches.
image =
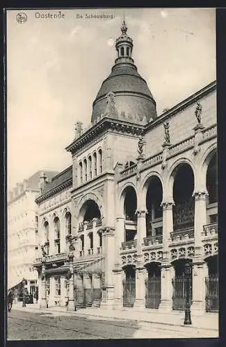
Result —
[[[134,307],[143,310],[145,308],[145,278],[147,270],[143,267],[136,268],[136,300]]]

